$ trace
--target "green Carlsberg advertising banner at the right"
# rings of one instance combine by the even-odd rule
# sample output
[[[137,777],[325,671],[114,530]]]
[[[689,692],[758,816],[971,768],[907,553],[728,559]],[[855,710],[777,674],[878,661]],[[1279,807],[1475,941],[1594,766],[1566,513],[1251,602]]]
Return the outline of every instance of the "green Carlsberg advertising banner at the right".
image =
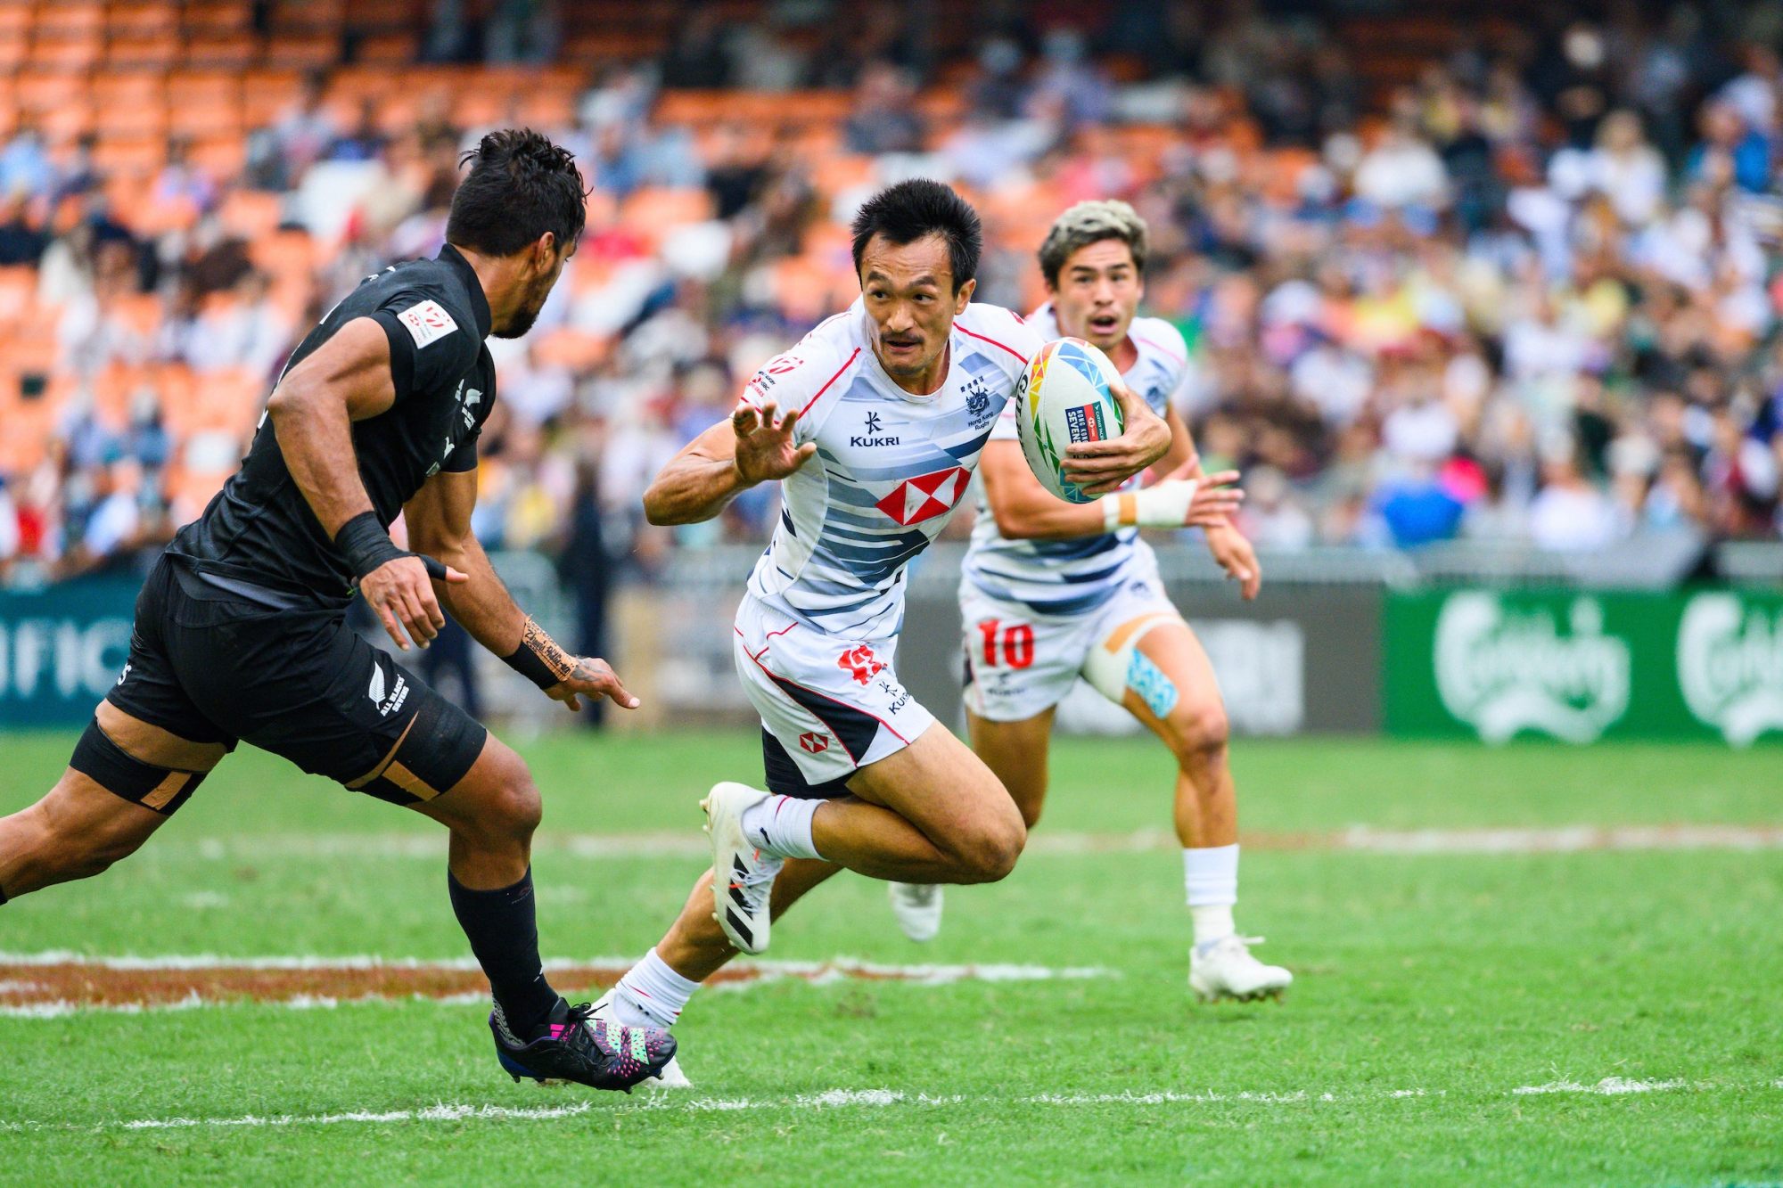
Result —
[[[1394,735],[1783,738],[1783,590],[1389,594]]]

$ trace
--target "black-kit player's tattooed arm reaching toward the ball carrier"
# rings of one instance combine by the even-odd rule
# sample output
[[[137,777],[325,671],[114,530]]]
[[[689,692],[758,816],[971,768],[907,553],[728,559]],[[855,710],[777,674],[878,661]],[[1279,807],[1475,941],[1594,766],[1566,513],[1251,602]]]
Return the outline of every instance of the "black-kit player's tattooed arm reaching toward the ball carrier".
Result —
[[[464,580],[435,580],[433,585],[451,617],[471,639],[572,710],[581,708],[579,697],[603,696],[628,710],[635,708],[638,699],[626,692],[604,660],[571,655],[521,610],[471,532],[474,508],[474,469],[440,471],[403,505],[408,542],[415,551],[437,557],[451,571],[464,574]]]

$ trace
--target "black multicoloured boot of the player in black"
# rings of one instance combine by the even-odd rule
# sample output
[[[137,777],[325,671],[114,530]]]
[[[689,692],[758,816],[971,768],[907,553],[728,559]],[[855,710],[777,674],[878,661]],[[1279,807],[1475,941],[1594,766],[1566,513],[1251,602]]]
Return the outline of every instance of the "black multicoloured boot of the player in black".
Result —
[[[515,1081],[574,1081],[628,1093],[638,1081],[660,1077],[674,1060],[676,1047],[667,1031],[624,1027],[612,1019],[596,1017],[588,1002],[571,1006],[563,999],[558,999],[528,1040],[508,1029],[499,1006],[489,1013],[489,1029],[496,1035],[496,1060]]]

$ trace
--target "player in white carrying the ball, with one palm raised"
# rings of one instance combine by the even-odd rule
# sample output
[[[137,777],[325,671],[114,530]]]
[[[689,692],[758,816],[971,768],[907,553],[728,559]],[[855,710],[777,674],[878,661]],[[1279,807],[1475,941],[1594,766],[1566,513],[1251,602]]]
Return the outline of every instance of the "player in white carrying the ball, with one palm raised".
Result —
[[[713,870],[597,1015],[674,1024],[701,981],[767,949],[770,919],[838,869],[986,883],[1027,840],[997,776],[934,728],[892,665],[904,569],[959,505],[1043,341],[1016,314],[970,303],[979,219],[947,186],[900,182],[852,232],[861,298],[768,360],[736,412],[644,494],[651,523],[683,524],[785,480],[735,635],[768,790],[711,788]],[[1127,430],[1070,450],[1066,473],[1089,489],[1116,489],[1170,448],[1159,416],[1130,391],[1118,398]],[[1228,494],[1207,505],[1232,507]]]

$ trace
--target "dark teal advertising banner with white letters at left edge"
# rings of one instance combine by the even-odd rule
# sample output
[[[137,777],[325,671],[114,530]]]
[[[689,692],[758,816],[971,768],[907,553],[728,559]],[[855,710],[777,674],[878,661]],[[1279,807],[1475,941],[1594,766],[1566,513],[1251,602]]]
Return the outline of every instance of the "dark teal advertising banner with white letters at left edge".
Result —
[[[84,578],[0,590],[0,728],[80,726],[130,655],[141,582]]]

